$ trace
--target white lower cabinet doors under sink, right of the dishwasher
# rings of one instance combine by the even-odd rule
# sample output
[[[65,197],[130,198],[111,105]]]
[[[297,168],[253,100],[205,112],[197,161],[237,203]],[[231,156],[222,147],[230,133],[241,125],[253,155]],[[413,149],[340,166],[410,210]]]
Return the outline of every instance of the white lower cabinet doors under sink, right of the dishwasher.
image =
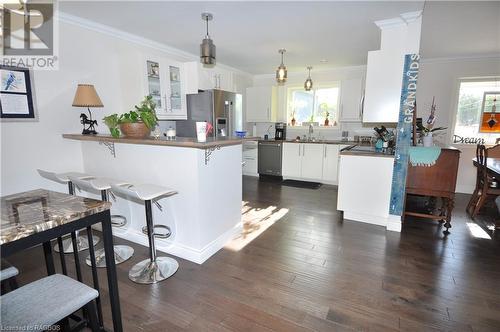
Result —
[[[337,184],[339,151],[346,145],[284,143],[283,177]]]

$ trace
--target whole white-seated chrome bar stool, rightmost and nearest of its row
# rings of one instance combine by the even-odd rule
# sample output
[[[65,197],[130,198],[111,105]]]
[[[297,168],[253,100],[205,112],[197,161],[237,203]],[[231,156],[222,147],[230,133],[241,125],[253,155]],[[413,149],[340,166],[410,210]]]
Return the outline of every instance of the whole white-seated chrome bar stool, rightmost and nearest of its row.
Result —
[[[120,193],[129,198],[144,201],[146,209],[146,226],[143,228],[143,232],[147,233],[149,240],[149,259],[134,265],[129,271],[129,279],[139,284],[155,284],[172,276],[179,268],[179,263],[170,257],[157,257],[155,246],[155,237],[168,238],[172,232],[168,226],[154,225],[151,202],[154,202],[161,210],[161,205],[157,200],[173,196],[177,194],[177,191],[153,184],[125,186],[111,184],[111,190],[114,193]],[[156,229],[163,229],[166,233],[156,233]]]

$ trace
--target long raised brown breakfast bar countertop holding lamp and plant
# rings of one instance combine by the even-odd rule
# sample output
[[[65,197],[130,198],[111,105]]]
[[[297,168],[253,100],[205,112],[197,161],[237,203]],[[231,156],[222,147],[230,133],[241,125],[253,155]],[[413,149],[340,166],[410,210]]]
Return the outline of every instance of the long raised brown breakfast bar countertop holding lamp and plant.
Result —
[[[82,135],[82,134],[63,134],[66,139],[78,141],[95,141],[95,142],[112,142],[124,144],[144,144],[144,145],[162,145],[162,146],[177,146],[184,148],[208,149],[220,146],[238,145],[244,141],[258,140],[258,137],[224,137],[224,138],[207,138],[206,142],[198,142],[196,138],[177,137],[175,140],[167,140],[166,137],[154,138],[114,138],[111,135]]]

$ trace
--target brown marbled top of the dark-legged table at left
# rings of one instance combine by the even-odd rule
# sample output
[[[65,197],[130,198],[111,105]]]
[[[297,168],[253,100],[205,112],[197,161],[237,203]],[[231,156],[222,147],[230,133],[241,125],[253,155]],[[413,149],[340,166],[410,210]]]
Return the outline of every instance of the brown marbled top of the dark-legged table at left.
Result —
[[[111,208],[111,203],[37,189],[1,197],[0,244]]]

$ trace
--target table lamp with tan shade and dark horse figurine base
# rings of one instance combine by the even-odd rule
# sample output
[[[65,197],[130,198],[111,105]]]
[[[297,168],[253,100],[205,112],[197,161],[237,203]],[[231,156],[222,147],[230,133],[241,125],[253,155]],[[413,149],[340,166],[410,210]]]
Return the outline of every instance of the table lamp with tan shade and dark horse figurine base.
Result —
[[[90,107],[103,107],[101,98],[97,95],[95,88],[92,84],[78,84],[76,89],[75,98],[73,99],[73,106],[87,107],[89,116],[85,113],[80,114],[80,123],[83,125],[83,135],[95,135],[94,126],[97,126],[97,120],[92,120],[92,113]]]

